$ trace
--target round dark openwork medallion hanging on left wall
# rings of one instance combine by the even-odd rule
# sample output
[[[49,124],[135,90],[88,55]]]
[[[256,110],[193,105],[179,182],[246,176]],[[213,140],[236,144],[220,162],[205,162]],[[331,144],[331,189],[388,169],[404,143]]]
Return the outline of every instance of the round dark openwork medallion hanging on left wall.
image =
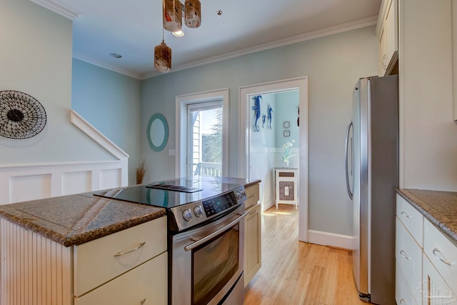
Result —
[[[46,111],[33,96],[19,91],[0,91],[0,136],[29,139],[46,126]]]

